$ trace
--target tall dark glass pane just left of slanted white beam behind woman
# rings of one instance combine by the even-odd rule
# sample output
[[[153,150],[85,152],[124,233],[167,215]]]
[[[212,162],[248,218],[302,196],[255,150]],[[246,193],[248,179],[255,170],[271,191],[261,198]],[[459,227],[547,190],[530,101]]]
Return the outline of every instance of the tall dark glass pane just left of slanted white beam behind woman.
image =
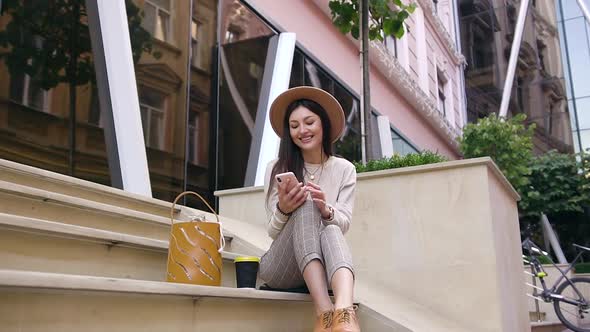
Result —
[[[221,1],[217,189],[244,186],[270,38],[239,1]]]

